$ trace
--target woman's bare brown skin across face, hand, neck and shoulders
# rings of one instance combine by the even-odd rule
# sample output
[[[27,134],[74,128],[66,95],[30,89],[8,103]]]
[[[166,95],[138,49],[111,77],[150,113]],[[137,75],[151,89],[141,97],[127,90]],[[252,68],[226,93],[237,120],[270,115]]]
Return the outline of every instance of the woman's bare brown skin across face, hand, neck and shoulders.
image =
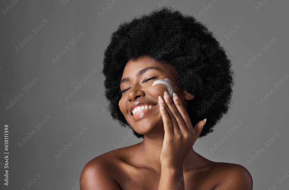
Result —
[[[148,70],[139,78],[136,77],[138,71],[149,66],[158,67],[160,71]],[[156,78],[143,82],[152,76]],[[177,83],[172,65],[144,55],[127,62],[122,79],[125,77],[130,77],[130,81],[120,86],[121,90],[128,88],[121,97],[120,110],[129,125],[139,134],[144,134],[144,140],[90,160],[81,172],[81,190],[252,190],[253,180],[245,167],[213,162],[194,152],[192,145],[199,137],[205,121],[200,121],[192,128],[188,115],[184,113],[188,111],[188,100],[193,99],[194,95]],[[155,80],[165,78],[172,81],[179,100],[164,98],[164,92],[167,91],[165,85],[151,86]],[[159,96],[164,103],[159,102]],[[157,109],[136,121],[129,106],[139,100],[153,101]],[[164,105],[165,109],[160,109],[160,105]]]

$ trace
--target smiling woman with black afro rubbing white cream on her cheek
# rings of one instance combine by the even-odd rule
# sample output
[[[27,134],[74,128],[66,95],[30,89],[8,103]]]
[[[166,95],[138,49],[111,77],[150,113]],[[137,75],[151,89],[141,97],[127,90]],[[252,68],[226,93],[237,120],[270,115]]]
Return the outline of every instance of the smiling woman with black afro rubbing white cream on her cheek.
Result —
[[[81,190],[252,189],[246,168],[192,147],[227,113],[234,84],[225,50],[202,23],[167,7],[124,22],[103,64],[108,110],[144,140],[90,160]]]

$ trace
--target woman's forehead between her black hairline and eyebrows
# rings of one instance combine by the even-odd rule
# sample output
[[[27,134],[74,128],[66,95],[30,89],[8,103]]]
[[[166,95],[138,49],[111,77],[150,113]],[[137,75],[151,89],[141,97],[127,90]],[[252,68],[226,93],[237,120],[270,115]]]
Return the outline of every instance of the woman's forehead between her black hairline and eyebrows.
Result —
[[[127,77],[132,74],[134,75],[134,73],[137,73],[139,70],[149,66],[157,67],[160,69],[160,71],[158,72],[162,72],[165,74],[175,73],[174,66],[161,61],[156,61],[147,55],[143,55],[138,57],[136,60],[129,60],[126,63],[125,68],[123,70],[123,77]]]

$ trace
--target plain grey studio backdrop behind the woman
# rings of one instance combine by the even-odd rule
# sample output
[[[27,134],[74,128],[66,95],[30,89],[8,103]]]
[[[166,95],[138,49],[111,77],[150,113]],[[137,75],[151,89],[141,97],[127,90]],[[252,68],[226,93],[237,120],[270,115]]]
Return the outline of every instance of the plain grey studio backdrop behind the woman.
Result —
[[[194,150],[212,161],[246,167],[253,177],[253,189],[268,189],[273,185],[277,185],[278,189],[288,189],[289,179],[281,185],[276,180],[289,169],[289,80],[277,90],[273,87],[289,71],[288,1],[262,1],[266,3],[255,11],[253,6],[257,6],[258,1],[249,0],[116,0],[116,4],[100,18],[98,12],[111,2],[71,0],[63,4],[60,0],[22,0],[17,1],[5,16],[1,11],[1,143],[4,125],[9,124],[10,129],[10,181],[9,187],[3,185],[4,168],[1,164],[1,188],[28,189],[25,183],[39,172],[42,176],[29,189],[72,189],[79,182],[81,170],[89,160],[114,150],[118,140],[131,132],[112,121],[110,113],[105,111],[104,77],[100,73],[103,51],[110,34],[120,22],[148,13],[163,2],[165,6],[170,5],[191,15],[198,15],[203,6],[212,3],[199,20],[208,24],[218,41],[225,41],[223,46],[234,63],[236,85],[233,106],[213,133],[196,141]],[[1,1],[1,10],[10,3],[10,0]],[[42,19],[49,22],[34,34],[32,29]],[[233,30],[235,24],[241,28],[227,40],[224,35]],[[71,47],[68,42],[79,31],[85,35]],[[33,38],[17,53],[15,46],[29,34],[33,34]],[[277,41],[262,52],[260,48],[274,36]],[[55,54],[66,46],[70,50],[53,64],[51,59],[55,59]],[[245,70],[244,64],[257,52],[261,52],[262,56]],[[92,68],[98,71],[84,84],[81,79]],[[32,81],[32,77],[39,81],[24,93],[22,88]],[[83,87],[66,101],[64,96],[68,96],[68,91],[79,83]],[[270,89],[274,89],[275,93],[258,107],[256,102]],[[7,111],[5,105],[20,92],[24,96]],[[37,130],[35,125],[44,119],[45,114],[52,118]],[[238,120],[244,124],[229,136],[227,130],[233,128]],[[88,131],[74,142],[72,136],[84,126]],[[36,130],[36,134],[20,148],[18,142],[32,130]],[[266,148],[264,142],[272,138],[274,132],[280,136]],[[228,139],[211,153],[210,148],[224,135]],[[122,147],[141,141],[132,136]],[[56,160],[54,155],[68,142],[73,145]],[[248,165],[247,160],[262,147],[265,151]],[[0,152],[0,161],[3,161],[2,149]]]

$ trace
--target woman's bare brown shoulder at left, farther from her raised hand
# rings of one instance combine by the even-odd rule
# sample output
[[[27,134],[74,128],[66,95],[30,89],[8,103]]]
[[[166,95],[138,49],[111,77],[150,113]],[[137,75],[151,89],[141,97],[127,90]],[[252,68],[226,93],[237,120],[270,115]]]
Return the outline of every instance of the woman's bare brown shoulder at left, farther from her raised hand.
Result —
[[[118,170],[118,153],[109,151],[90,160],[82,169],[80,189],[121,189],[114,173]]]

